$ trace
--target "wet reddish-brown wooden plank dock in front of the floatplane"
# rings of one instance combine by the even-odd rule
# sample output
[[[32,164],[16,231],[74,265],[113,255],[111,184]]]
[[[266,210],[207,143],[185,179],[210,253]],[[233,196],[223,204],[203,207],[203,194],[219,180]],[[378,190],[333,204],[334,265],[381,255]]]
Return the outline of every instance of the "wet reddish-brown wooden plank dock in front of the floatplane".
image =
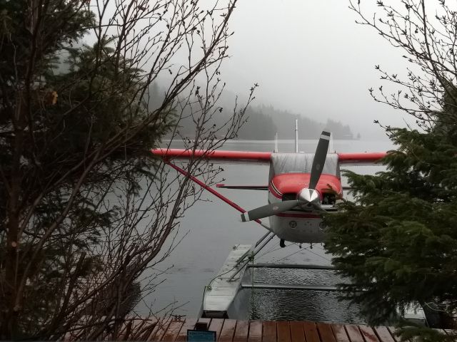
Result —
[[[182,318],[162,324],[136,326],[141,341],[186,341],[187,329],[204,322],[216,331],[218,342],[398,342],[393,328],[310,321],[237,321],[221,318]],[[138,329],[138,330],[137,330]],[[130,339],[130,338],[129,338]]]

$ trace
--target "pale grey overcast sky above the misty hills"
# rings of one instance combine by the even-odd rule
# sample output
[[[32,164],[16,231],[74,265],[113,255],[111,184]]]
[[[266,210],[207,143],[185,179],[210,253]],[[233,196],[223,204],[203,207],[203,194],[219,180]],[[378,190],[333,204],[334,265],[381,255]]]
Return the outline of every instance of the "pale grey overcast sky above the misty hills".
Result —
[[[362,0],[371,13],[375,3]],[[383,85],[374,66],[404,75],[406,63],[403,51],[356,17],[346,0],[239,0],[222,74],[227,89],[247,93],[256,82],[257,104],[340,120],[363,139],[382,138],[373,120],[404,125],[406,117],[371,99],[368,88]]]

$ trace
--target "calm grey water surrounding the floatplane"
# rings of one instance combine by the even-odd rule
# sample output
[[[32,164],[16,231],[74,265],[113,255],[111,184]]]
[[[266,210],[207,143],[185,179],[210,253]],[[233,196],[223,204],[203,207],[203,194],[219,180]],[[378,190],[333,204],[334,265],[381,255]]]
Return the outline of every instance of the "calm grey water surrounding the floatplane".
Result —
[[[317,140],[300,140],[299,150],[314,152]],[[171,147],[180,147],[179,142]],[[233,140],[226,142],[224,150],[271,151],[273,141]],[[381,152],[391,150],[389,140],[335,140],[336,152]],[[293,152],[293,140],[279,140],[280,152]],[[224,164],[219,179],[233,185],[266,185],[268,165]],[[361,174],[373,174],[382,170],[379,166],[342,167]],[[343,185],[345,180],[343,179]],[[220,192],[244,209],[253,209],[266,204],[266,192],[222,189]],[[268,223],[268,219],[265,219]],[[160,283],[136,307],[139,314],[148,314],[149,309],[159,314],[197,317],[201,310],[204,286],[214,278],[231,248],[235,244],[254,244],[265,234],[265,229],[255,222],[239,222],[239,213],[228,204],[209,193],[204,201],[191,207],[181,221],[175,241],[181,240],[169,257],[154,271]],[[279,247],[275,237],[256,257],[256,262],[287,264],[331,264],[331,255],[321,244],[310,246],[288,244]],[[256,281],[282,284],[333,285],[341,279],[333,271],[317,270],[256,270]],[[246,308],[251,319],[311,320],[339,323],[363,323],[356,306],[339,301],[335,292],[262,290],[251,291]]]

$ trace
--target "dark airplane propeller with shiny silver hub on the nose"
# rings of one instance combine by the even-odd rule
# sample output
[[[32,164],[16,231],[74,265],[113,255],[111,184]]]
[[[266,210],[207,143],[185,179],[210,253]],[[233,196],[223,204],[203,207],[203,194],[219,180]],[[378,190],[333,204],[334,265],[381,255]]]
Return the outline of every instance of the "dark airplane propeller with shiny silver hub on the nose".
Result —
[[[319,178],[321,178],[323,165],[326,162],[328,142],[330,141],[330,133],[322,131],[321,138],[317,144],[316,153],[313,158],[311,167],[311,175],[309,177],[309,186],[298,192],[297,199],[291,199],[283,202],[266,204],[263,207],[249,210],[241,214],[241,221],[251,221],[253,219],[263,219],[281,212],[286,212],[295,207],[301,206],[303,209],[321,209],[321,201],[317,192],[316,186]]]

